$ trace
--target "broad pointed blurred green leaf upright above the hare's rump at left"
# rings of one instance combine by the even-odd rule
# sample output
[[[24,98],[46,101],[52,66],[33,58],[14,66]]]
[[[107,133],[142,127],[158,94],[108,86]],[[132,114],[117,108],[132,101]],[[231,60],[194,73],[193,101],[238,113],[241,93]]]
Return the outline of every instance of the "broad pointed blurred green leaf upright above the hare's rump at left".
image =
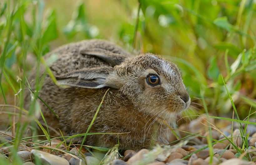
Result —
[[[48,17],[47,22],[48,22],[48,27],[44,31],[44,34],[42,37],[42,43],[49,42],[58,37],[58,31],[57,31],[57,25],[56,25],[56,15],[55,15],[54,11]]]

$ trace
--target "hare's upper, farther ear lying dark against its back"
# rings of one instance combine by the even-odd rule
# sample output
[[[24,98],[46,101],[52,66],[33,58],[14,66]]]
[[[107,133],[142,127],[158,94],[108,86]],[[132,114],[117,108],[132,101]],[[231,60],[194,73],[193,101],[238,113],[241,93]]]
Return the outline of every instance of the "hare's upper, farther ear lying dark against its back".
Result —
[[[120,63],[126,61],[128,58],[131,58],[132,55],[128,52],[125,52],[125,54],[119,54],[122,52],[112,52],[110,50],[105,50],[102,48],[82,48],[80,49],[80,53],[82,55],[88,55],[100,58],[101,60],[105,61],[106,63],[109,63],[110,66],[114,67],[115,65],[119,65]]]

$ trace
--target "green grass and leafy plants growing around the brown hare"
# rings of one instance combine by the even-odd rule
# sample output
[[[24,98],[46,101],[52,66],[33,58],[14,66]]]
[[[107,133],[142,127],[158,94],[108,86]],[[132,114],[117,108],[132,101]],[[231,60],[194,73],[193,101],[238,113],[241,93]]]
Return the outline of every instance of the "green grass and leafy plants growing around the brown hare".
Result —
[[[72,8],[73,14],[66,10],[67,7]],[[23,109],[26,104],[24,91],[30,88],[26,85],[27,76],[34,66],[39,75],[40,63],[48,68],[43,57],[53,48],[82,39],[102,38],[130,51],[162,54],[177,63],[191,98],[194,98],[192,113],[196,109],[199,113],[206,111],[207,118],[238,122],[242,148],[233,143],[235,137],[226,138],[238,151],[238,157],[252,160],[248,154],[251,147],[247,143],[246,127],[247,124],[256,125],[249,121],[249,117],[255,118],[256,109],[255,9],[253,0],[112,0],[88,1],[86,4],[67,0],[61,4],[54,0],[1,1],[0,116],[3,117],[0,117],[0,123],[8,123],[1,126],[1,130],[12,131],[13,140],[8,143],[14,146],[14,151],[20,143],[26,142],[33,143],[32,147],[45,147],[33,134],[36,125],[51,142],[49,131],[44,130],[34,117],[40,112],[36,99],[29,109]],[[47,70],[51,75],[50,69]],[[38,75],[36,90],[31,91],[34,98],[38,98],[42,87]],[[233,113],[235,117],[232,117]],[[36,124],[31,125],[31,118]],[[207,125],[209,132],[212,129],[219,131],[211,123]],[[30,136],[24,136],[29,131]],[[87,135],[90,135],[88,131],[74,137],[86,138]],[[66,143],[72,137],[63,138]],[[212,145],[223,141],[212,139],[211,133],[202,138],[207,138],[206,148],[209,147],[211,153]],[[2,137],[0,142],[0,146],[7,144]],[[116,153],[115,148],[113,152]],[[14,162],[21,163],[16,152],[13,157]]]

